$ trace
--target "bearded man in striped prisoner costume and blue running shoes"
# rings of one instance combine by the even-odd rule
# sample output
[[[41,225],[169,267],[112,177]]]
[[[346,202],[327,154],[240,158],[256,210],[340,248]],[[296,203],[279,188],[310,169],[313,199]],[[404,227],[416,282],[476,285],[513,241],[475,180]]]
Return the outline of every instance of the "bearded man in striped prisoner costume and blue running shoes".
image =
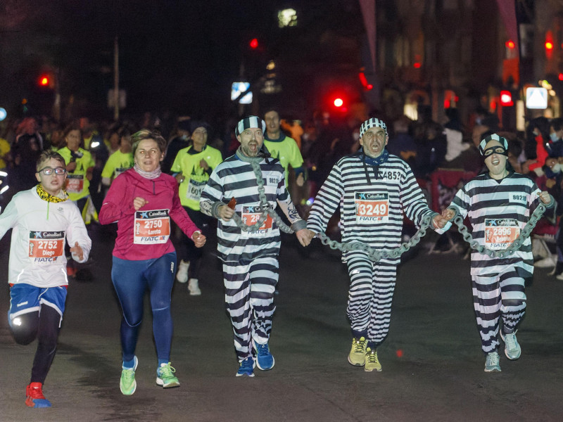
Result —
[[[268,215],[258,231],[241,231],[232,219],[236,212],[248,225],[260,217],[262,205],[258,181],[251,162],[258,162],[267,202],[278,204],[306,246],[307,224],[299,217],[286,189],[284,167],[270,158],[263,146],[265,122],[260,117],[243,118],[235,129],[241,146],[235,155],[215,167],[201,193],[201,212],[216,217],[217,250],[223,262],[225,302],[234,332],[239,359],[236,376],[254,376],[254,367],[267,371],[274,366],[268,340],[274,315],[274,291],[278,281],[279,228]],[[227,205],[235,198],[234,209]],[[255,359],[253,357],[255,354]]]

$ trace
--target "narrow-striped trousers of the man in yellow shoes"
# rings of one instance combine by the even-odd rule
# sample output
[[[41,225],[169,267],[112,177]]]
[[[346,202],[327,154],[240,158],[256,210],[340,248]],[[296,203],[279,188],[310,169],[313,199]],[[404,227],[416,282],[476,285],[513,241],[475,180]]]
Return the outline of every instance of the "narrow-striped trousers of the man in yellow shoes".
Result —
[[[346,262],[350,274],[346,314],[352,331],[366,332],[369,342],[380,345],[389,331],[397,267],[374,263],[361,253],[350,254]]]

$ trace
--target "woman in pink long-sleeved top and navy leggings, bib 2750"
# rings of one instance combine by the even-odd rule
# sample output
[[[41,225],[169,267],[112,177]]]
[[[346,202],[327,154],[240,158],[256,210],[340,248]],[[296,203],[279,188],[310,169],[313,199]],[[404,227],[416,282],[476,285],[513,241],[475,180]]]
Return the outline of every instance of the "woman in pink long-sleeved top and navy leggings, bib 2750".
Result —
[[[123,354],[120,390],[132,395],[137,388],[135,347],[149,290],[158,367],[156,383],[178,387],[170,365],[172,315],[170,296],[176,273],[176,251],[170,241],[170,217],[198,248],[205,236],[191,222],[178,197],[177,181],[160,172],[166,141],[158,132],[141,130],[132,136],[135,165],[111,185],[99,214],[101,224],[118,223],[111,278],[123,311]]]

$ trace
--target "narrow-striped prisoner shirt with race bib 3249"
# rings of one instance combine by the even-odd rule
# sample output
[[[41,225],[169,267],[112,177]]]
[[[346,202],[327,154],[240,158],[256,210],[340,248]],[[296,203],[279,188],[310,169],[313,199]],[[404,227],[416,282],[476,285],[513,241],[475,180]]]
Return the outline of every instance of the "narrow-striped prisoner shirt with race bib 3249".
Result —
[[[424,215],[433,214],[410,167],[396,155],[389,155],[379,167],[365,164],[361,155],[347,155],[336,162],[317,193],[308,229],[325,231],[339,206],[342,241],[382,249],[400,244],[403,212],[417,226]]]

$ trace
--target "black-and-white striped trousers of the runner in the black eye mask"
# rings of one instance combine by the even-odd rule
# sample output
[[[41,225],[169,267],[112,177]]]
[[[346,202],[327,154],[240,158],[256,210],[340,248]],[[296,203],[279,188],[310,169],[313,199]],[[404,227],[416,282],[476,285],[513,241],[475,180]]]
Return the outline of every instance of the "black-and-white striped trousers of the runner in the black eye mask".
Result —
[[[473,303],[483,352],[493,352],[498,340],[499,319],[514,329],[526,309],[522,269],[514,265],[500,268],[496,276],[472,276]]]

